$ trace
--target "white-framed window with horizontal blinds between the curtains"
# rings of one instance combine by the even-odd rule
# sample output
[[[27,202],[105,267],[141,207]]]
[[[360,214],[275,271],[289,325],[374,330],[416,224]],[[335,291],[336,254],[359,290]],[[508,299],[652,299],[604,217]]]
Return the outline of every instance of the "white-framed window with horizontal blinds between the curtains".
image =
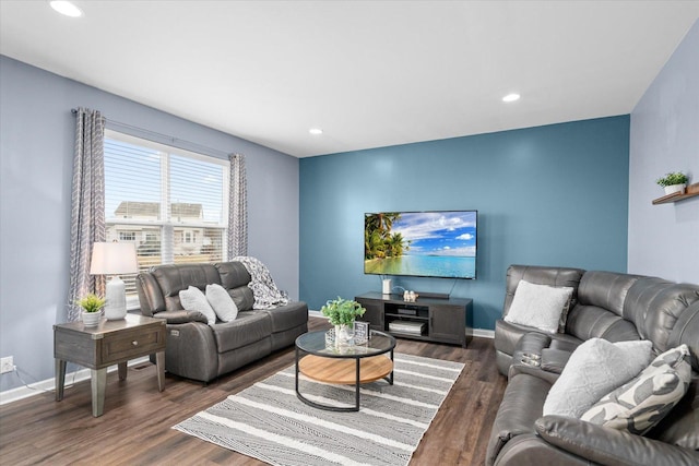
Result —
[[[139,268],[226,256],[228,160],[107,130],[107,241],[135,243]],[[137,299],[135,274],[121,277]]]

